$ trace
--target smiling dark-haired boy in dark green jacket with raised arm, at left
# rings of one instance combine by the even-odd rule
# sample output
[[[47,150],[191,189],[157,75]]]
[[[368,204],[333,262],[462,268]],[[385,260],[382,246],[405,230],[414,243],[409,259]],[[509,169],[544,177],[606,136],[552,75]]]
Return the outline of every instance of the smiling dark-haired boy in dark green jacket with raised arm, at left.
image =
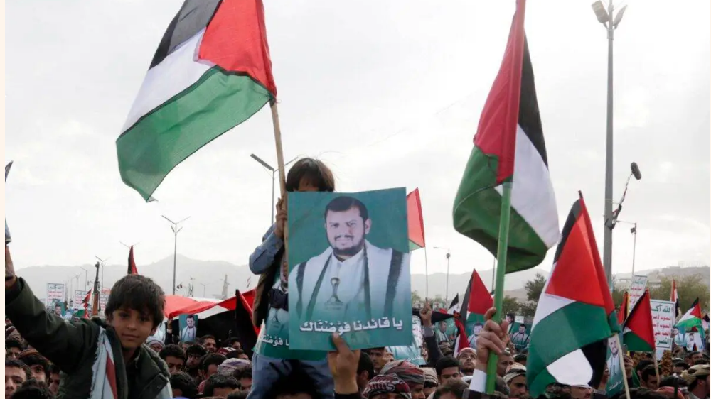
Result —
[[[62,371],[57,399],[172,398],[166,364],[143,345],[162,322],[164,304],[163,290],[151,279],[127,275],[111,289],[106,322],[65,322],[15,275],[5,245],[5,314]]]

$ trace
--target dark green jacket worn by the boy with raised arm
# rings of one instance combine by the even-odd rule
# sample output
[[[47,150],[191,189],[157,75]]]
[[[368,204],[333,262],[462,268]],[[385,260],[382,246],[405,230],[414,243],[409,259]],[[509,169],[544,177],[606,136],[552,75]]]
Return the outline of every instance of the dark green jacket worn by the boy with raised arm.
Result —
[[[100,328],[111,342],[119,399],[171,398],[170,372],[164,361],[143,345],[132,362],[132,381],[127,378],[121,343],[112,327],[98,317],[66,322],[48,312],[18,278],[15,287],[5,290],[5,315],[24,339],[62,371],[56,399],[87,399],[92,386],[92,366],[97,354]],[[101,377],[103,378],[103,377]]]

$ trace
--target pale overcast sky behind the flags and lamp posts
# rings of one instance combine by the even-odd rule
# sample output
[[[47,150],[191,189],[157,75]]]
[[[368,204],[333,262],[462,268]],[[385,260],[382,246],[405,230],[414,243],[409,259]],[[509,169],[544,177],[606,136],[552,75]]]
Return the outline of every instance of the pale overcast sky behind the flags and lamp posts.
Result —
[[[265,1],[287,160],[316,156],[342,192],[419,187],[429,271],[491,268],[451,207],[501,62],[514,0]],[[529,1],[533,60],[560,224],[577,190],[602,251],[606,32],[591,0]],[[267,108],[173,170],[146,204],[125,186],[115,139],[180,0],[6,4],[6,219],[18,266],[94,256],[139,266],[173,253],[161,218],[191,216],[178,252],[246,264],[269,225],[276,163]],[[618,1],[619,3],[619,1]],[[436,6],[435,6],[436,4]],[[637,270],[710,258],[711,2],[636,1],[615,40],[614,200],[638,222]],[[278,189],[277,189],[278,191]],[[629,272],[629,226],[614,271]],[[550,251],[544,268],[550,268]],[[424,272],[424,251],[412,259]]]

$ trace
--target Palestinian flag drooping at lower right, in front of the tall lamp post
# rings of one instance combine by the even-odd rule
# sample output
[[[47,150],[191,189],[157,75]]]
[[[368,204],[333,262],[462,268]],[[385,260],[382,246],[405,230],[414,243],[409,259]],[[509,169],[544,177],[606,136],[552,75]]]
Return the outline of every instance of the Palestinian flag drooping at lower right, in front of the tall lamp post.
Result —
[[[526,379],[533,398],[551,383],[599,386],[607,339],[619,331],[585,202],[580,195],[563,227],[538,300]]]

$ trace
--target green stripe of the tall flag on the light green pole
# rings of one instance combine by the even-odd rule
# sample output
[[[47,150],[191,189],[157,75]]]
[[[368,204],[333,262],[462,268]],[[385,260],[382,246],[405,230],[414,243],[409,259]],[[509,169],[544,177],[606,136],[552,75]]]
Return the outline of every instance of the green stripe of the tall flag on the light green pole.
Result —
[[[454,229],[496,256],[501,194],[496,186],[498,158],[474,147],[454,200]],[[540,264],[548,248],[523,217],[511,208],[506,273]]]

